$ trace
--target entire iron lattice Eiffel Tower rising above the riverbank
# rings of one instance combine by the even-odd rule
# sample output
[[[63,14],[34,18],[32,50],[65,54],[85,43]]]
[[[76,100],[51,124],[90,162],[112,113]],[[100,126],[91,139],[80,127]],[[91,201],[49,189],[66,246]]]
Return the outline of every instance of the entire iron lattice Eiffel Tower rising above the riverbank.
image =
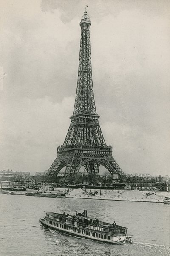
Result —
[[[57,148],[57,158],[46,177],[57,177],[65,166],[66,177],[77,174],[81,166],[84,166],[88,175],[99,177],[100,165],[111,174],[124,176],[112,156],[111,145],[107,146],[105,143],[96,113],[91,70],[90,25],[91,21],[85,9],[80,22],[79,71],[71,124],[63,145]]]

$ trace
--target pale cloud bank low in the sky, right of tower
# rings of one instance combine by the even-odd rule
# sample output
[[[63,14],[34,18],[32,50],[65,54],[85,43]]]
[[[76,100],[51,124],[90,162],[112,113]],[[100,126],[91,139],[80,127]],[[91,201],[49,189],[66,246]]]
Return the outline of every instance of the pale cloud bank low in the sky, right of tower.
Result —
[[[129,123],[105,122],[102,131],[108,145],[113,147],[113,157],[125,173],[168,173],[170,135],[167,130],[150,134]]]

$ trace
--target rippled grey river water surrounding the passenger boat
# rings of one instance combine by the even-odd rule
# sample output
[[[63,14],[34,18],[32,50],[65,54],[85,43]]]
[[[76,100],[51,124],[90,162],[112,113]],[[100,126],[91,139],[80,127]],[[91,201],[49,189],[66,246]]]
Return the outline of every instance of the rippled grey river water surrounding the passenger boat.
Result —
[[[48,230],[39,224],[45,212],[73,213],[84,209],[91,218],[116,221],[127,227],[133,243],[105,244]],[[169,256],[170,205],[0,194],[0,255]]]

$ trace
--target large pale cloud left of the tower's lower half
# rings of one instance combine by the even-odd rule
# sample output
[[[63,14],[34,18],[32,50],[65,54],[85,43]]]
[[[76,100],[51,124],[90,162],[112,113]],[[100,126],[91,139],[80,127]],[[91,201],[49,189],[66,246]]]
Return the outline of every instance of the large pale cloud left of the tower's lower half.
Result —
[[[49,97],[23,98],[1,116],[0,152],[2,169],[48,169],[68,131],[73,97],[53,103]]]

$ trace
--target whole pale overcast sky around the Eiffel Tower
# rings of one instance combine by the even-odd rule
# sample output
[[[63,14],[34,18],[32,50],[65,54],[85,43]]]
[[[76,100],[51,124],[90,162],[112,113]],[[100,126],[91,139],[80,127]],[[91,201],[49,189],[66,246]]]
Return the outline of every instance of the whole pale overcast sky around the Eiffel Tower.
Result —
[[[1,0],[0,170],[49,169],[73,113],[91,20],[96,110],[125,173],[170,174],[170,1]]]

